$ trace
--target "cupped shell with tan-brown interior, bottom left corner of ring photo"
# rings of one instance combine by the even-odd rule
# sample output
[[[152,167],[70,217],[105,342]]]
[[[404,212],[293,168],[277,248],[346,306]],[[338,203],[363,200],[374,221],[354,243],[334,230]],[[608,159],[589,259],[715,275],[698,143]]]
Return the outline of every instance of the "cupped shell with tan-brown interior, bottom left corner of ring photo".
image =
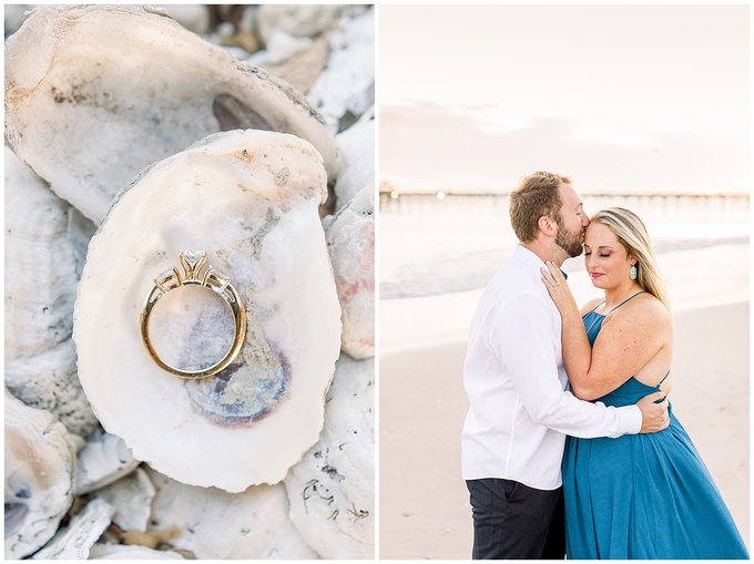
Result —
[[[6,558],[54,535],[73,499],[74,459],[65,428],[6,390]]]

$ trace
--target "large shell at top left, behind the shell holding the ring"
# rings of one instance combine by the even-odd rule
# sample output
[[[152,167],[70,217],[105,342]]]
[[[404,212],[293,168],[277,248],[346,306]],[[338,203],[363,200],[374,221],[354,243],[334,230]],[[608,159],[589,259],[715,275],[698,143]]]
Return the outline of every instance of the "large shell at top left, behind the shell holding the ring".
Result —
[[[303,95],[162,10],[40,6],[6,43],[7,143],[95,223],[145,166],[249,127],[309,141],[335,182],[337,145]]]

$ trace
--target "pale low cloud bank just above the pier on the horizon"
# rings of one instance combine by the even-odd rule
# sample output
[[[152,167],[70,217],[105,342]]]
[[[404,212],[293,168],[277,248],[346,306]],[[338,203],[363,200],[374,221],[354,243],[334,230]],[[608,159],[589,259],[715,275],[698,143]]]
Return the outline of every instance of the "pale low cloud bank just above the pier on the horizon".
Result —
[[[570,119],[490,126],[479,112],[434,103],[380,109],[380,176],[411,178],[399,189],[507,192],[537,170],[569,174],[579,189],[741,191],[748,137],[633,131]]]

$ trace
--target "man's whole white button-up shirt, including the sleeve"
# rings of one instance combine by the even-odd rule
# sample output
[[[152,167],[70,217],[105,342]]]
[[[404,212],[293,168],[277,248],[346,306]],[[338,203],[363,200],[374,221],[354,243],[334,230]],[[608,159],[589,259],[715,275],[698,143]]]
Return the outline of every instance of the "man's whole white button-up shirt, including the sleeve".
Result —
[[[466,480],[505,478],[539,490],[562,484],[566,435],[638,433],[641,411],[591,403],[570,391],[561,317],[540,268],[518,245],[495,275],[471,320],[463,366],[470,409],[461,435]]]

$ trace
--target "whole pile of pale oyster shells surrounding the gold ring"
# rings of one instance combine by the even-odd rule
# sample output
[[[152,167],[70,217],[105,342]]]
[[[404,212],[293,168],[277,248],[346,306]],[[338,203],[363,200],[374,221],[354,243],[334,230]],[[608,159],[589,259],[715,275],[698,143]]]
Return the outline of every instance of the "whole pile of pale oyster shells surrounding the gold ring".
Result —
[[[374,32],[369,6],[7,11],[7,558],[374,557]],[[187,380],[139,315],[197,249],[246,334]],[[187,290],[151,326],[184,363],[234,330]]]

